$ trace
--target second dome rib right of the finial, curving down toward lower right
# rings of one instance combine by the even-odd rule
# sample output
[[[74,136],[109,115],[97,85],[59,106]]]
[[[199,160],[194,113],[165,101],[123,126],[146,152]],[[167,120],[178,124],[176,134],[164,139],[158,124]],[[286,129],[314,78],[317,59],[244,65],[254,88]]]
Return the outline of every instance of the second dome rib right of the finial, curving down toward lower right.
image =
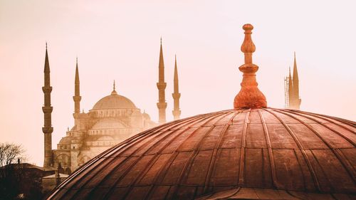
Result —
[[[292,130],[290,130],[290,127],[288,127],[288,125],[286,125],[285,122],[283,122],[283,120],[281,120],[280,117],[278,117],[274,112],[271,112],[270,110],[266,109],[266,108],[261,108],[263,110],[266,110],[267,112],[271,113],[274,117],[276,117],[280,122],[281,124],[286,128],[286,130],[288,131],[288,133],[293,137],[293,140],[295,141],[295,143],[298,145],[299,149],[300,149],[300,152],[302,152],[303,154],[303,158],[305,159],[305,162],[306,164],[308,165],[308,169],[310,170],[310,173],[312,174],[312,177],[313,177],[313,182],[316,186],[316,188],[319,190],[319,191],[322,191],[321,190],[321,187],[320,187],[320,183],[319,183],[319,180],[318,180],[318,177],[317,175],[315,174],[315,169],[313,168],[311,162],[310,162],[310,159],[308,158],[308,154],[305,152],[305,149],[303,148],[303,145],[300,143],[300,141],[298,140],[298,137],[296,137],[296,135],[294,134],[294,132]]]

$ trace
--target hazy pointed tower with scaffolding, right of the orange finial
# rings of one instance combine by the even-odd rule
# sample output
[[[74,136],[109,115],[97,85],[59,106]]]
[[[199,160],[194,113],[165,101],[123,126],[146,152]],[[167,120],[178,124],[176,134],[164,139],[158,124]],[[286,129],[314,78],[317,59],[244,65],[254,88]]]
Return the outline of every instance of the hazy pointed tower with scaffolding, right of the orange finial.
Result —
[[[290,74],[290,68],[289,68],[289,75],[285,87],[288,87],[288,96],[286,95],[286,99],[288,98],[288,106],[286,105],[286,107],[290,109],[300,110],[300,102],[302,100],[299,98],[299,79],[298,79],[297,61],[295,59],[295,52],[294,52],[293,78],[292,75]]]

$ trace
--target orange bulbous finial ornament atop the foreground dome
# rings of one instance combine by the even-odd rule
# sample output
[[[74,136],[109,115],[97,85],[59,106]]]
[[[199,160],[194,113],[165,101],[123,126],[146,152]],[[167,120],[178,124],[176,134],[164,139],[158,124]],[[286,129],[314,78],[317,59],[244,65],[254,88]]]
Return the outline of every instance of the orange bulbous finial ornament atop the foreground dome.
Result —
[[[241,65],[239,70],[244,75],[241,90],[234,100],[234,108],[267,107],[265,95],[257,88],[256,72],[258,66],[252,63],[252,53],[256,50],[256,46],[251,39],[253,26],[246,23],[242,28],[245,30],[245,38],[241,45],[241,51],[245,54],[245,64]]]

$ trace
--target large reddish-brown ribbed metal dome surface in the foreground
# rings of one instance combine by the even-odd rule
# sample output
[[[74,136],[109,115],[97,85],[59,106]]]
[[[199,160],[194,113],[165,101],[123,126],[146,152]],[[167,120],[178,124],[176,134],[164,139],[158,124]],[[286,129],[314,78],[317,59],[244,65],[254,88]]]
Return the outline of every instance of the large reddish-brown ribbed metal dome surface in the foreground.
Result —
[[[298,110],[197,115],[115,145],[49,199],[196,199],[241,187],[355,197],[355,132],[356,122]]]

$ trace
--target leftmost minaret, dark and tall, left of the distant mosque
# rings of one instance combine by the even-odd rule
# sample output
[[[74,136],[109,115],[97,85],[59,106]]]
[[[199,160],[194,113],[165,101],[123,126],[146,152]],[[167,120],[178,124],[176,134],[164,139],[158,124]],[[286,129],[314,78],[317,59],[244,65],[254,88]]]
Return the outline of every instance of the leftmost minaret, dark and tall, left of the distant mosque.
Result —
[[[44,134],[44,162],[43,167],[52,167],[53,166],[53,155],[52,155],[52,119],[51,113],[53,107],[51,106],[51,83],[50,83],[50,70],[49,70],[49,61],[47,53],[47,43],[46,43],[46,58],[44,65],[44,86],[42,87],[44,93],[44,106],[42,111],[44,114],[44,125],[42,127],[42,132]]]

